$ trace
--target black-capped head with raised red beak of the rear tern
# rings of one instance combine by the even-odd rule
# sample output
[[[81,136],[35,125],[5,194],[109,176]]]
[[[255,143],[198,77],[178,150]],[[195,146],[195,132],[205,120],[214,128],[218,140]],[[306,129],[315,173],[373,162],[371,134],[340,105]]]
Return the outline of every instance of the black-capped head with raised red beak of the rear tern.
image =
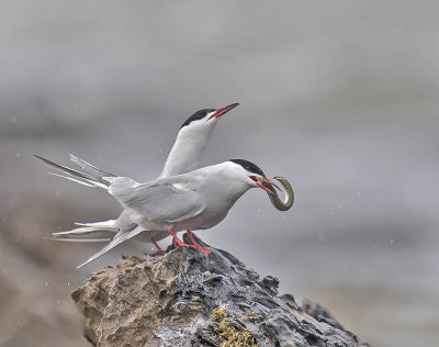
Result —
[[[239,103],[233,103],[217,110],[203,109],[196,111],[185,120],[183,125],[181,125],[180,132],[203,132],[209,128],[213,128],[223,114],[226,114],[228,111],[235,109],[238,104]]]

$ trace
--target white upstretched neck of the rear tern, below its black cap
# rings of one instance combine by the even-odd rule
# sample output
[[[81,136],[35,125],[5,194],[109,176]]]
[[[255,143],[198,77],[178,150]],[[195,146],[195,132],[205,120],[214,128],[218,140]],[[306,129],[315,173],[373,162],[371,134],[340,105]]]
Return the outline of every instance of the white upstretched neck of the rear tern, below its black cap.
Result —
[[[201,157],[212,135],[214,126],[195,132],[182,128],[178,135],[160,177],[185,174],[200,168]]]

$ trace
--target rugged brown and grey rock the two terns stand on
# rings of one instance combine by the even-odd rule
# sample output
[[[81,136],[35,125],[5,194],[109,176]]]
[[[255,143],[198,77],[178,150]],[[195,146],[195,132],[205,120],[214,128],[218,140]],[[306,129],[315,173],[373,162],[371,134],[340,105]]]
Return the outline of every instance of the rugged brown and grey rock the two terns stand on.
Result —
[[[185,236],[185,235],[184,235]],[[185,239],[188,242],[188,239]],[[327,310],[212,248],[123,258],[72,293],[95,346],[368,346]]]

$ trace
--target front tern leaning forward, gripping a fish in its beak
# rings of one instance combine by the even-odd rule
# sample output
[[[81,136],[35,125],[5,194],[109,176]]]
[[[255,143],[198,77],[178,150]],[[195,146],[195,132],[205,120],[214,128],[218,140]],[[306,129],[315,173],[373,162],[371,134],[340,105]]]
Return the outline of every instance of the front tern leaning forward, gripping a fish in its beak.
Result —
[[[156,237],[169,233],[183,247],[194,247],[205,256],[212,251],[196,243],[193,230],[206,230],[223,221],[235,202],[249,189],[261,188],[275,195],[272,181],[251,161],[230,159],[188,174],[138,183],[127,177],[103,177],[106,191],[124,208],[134,228],[120,230],[113,239],[91,256],[82,267],[120,243],[146,231]],[[90,181],[92,184],[93,182]],[[182,243],[177,232],[188,231],[193,245]]]

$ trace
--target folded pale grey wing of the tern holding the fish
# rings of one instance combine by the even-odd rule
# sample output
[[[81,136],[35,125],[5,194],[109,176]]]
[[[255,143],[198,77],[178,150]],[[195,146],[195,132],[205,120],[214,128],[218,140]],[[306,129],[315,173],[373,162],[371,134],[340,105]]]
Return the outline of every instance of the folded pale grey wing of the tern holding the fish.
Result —
[[[204,210],[196,182],[164,179],[160,183],[140,186],[125,197],[123,204],[146,220],[176,223],[188,220]]]

